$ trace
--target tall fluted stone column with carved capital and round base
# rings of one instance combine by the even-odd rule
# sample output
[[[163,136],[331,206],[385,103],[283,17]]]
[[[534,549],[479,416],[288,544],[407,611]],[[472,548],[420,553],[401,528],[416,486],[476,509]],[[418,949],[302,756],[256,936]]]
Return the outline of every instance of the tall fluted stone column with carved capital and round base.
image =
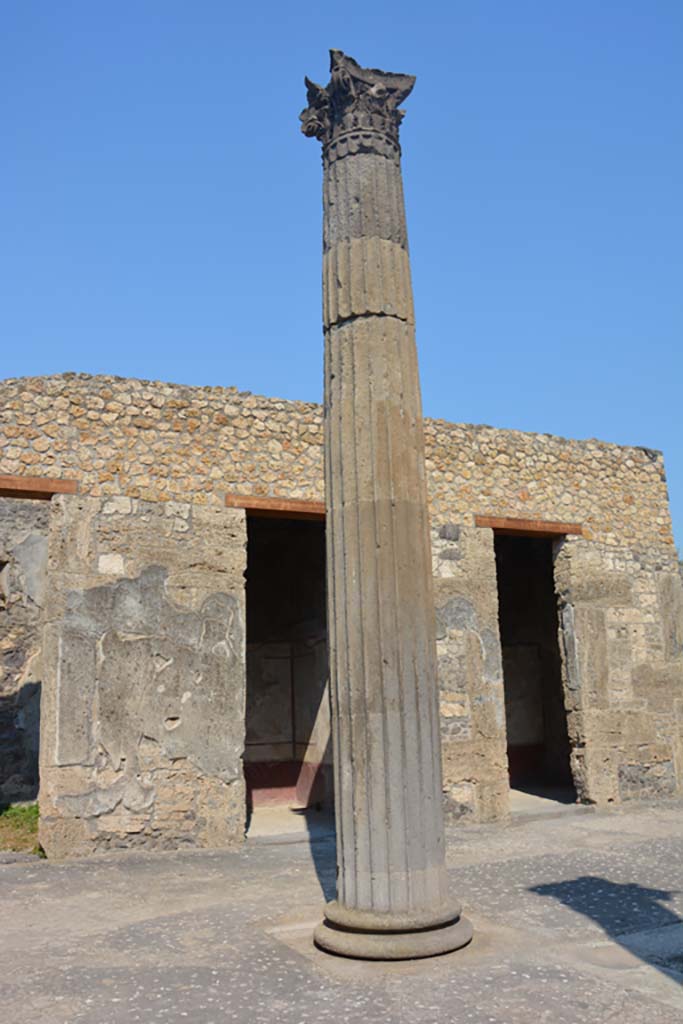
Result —
[[[349,956],[465,945],[444,869],[424,438],[398,104],[414,79],[331,52],[323,142],[328,607],[338,890],[315,941]]]

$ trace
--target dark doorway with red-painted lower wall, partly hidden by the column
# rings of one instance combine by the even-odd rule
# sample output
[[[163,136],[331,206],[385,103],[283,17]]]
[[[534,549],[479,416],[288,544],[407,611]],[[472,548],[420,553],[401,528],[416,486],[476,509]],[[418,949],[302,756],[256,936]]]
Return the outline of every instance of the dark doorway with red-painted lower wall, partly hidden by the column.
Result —
[[[325,522],[247,519],[249,810],[332,801]]]

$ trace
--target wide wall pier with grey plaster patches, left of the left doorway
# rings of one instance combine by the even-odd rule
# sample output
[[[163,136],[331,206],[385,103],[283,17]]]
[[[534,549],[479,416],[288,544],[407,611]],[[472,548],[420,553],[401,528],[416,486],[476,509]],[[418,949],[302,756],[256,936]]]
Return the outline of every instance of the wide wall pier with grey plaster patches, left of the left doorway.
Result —
[[[244,514],[56,498],[43,635],[49,856],[244,833]]]

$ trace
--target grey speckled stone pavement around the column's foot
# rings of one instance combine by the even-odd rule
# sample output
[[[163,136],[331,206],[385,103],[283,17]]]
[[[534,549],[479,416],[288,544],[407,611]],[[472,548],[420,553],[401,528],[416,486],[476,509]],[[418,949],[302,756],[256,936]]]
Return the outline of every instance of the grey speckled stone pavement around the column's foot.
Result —
[[[0,1021],[683,1022],[680,804],[452,829],[475,939],[399,965],[313,947],[316,837],[0,865]]]

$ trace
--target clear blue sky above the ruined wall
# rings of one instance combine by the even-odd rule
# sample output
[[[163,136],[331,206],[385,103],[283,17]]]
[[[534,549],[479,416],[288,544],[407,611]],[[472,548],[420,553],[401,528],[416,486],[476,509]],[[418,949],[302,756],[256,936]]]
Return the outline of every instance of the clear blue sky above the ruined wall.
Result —
[[[664,449],[683,544],[683,3],[8,0],[0,377],[319,399],[329,47],[418,76],[427,415]]]

